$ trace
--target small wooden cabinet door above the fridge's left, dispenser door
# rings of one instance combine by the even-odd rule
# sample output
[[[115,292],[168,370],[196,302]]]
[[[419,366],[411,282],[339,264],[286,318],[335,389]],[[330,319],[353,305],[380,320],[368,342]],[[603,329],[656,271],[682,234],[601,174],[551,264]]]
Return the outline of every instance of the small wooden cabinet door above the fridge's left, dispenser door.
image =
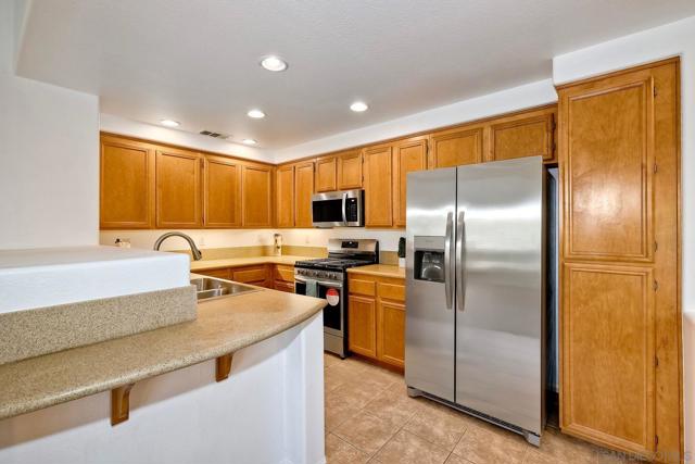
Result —
[[[434,133],[431,140],[430,168],[482,162],[482,127]]]

